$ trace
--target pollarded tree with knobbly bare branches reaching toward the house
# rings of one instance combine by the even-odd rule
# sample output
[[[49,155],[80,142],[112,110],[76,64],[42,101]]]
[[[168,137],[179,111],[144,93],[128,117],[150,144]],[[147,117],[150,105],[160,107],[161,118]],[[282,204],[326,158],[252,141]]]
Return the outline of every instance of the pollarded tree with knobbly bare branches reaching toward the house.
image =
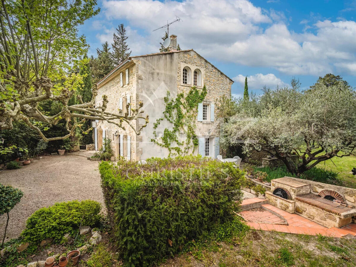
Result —
[[[78,36],[78,26],[98,14],[96,0],[1,0],[0,8],[0,130],[12,129],[12,123],[23,120],[45,141],[60,140],[73,135],[85,120],[102,120],[140,134],[148,117],[142,117],[142,103],[132,112],[122,114],[106,110],[109,101],[95,106],[93,96],[68,104],[80,88],[82,76],[77,72],[87,52],[84,36]],[[55,101],[61,110],[49,115],[41,103]],[[129,110],[127,106],[126,110]],[[136,124],[137,119],[146,123]],[[47,138],[43,130],[66,120],[68,134]],[[133,121],[135,121],[133,123]],[[140,125],[136,128],[136,125]]]

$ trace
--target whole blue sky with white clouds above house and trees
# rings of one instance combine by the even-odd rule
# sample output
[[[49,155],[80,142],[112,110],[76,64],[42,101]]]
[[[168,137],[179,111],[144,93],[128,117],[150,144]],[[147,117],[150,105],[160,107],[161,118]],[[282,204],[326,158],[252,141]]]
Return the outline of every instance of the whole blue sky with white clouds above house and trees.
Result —
[[[152,32],[179,16],[169,28],[182,49],[193,48],[235,83],[249,89],[286,86],[294,76],[302,88],[326,73],[340,74],[356,87],[356,0],[108,0],[98,1],[99,15],[79,33],[89,54],[124,23],[132,55],[157,52],[164,30]]]

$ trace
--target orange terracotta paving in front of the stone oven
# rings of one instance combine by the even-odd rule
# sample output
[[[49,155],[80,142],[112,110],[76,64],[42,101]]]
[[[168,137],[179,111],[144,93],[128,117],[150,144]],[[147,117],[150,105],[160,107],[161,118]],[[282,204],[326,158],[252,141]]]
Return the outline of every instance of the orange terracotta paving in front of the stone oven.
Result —
[[[247,204],[262,202],[261,199],[258,198],[252,198],[246,200],[248,201],[245,200],[244,201]],[[242,201],[242,205],[244,205],[244,201]],[[287,221],[288,225],[271,224],[271,223],[266,223],[266,221],[257,222],[259,219],[265,218],[265,216],[262,218],[258,217],[260,215],[264,215],[263,213],[259,213],[253,210],[251,210],[251,212],[249,213],[246,213],[246,211],[241,211],[241,213],[245,213],[245,215],[248,214],[248,218],[250,218],[251,220],[251,221],[246,220],[247,221],[246,224],[256,230],[278,231],[278,232],[285,232],[291,234],[304,234],[304,235],[323,235],[323,236],[330,236],[330,237],[344,237],[350,235],[356,237],[356,224],[349,224],[347,226],[342,227],[341,229],[336,227],[326,228],[320,224],[314,223],[311,220],[303,218],[298,214],[290,214],[270,204],[262,202],[261,206],[267,210],[272,211],[273,213],[281,215]]]

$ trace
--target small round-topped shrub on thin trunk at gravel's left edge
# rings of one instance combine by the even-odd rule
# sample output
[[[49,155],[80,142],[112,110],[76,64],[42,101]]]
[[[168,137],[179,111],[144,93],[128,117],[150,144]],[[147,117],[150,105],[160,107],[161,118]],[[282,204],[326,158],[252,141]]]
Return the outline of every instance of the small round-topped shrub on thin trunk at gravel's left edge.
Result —
[[[17,203],[20,202],[22,196],[23,193],[19,188],[0,184],[0,216],[5,213],[7,214],[4,238],[2,239],[1,246],[4,245],[7,226],[9,225],[9,212]]]

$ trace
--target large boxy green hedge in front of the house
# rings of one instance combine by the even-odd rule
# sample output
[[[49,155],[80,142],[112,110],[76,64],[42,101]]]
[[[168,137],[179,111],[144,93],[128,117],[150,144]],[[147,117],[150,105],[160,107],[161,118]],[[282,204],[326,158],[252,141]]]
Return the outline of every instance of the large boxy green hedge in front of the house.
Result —
[[[230,163],[185,156],[99,165],[118,251],[126,266],[151,266],[234,219],[243,174]],[[236,201],[236,202],[235,202]]]

